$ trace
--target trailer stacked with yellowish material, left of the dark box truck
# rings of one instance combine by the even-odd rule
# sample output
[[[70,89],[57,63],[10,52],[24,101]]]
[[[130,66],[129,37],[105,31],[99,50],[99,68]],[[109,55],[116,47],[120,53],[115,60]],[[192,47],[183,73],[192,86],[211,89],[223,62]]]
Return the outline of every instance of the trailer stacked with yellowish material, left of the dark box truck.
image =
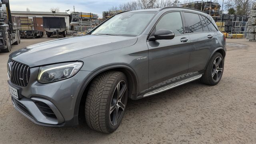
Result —
[[[21,38],[27,38],[27,37],[33,37],[33,38],[41,38],[44,36],[44,32],[40,30],[35,30],[34,25],[36,22],[35,18],[29,18],[29,17],[18,17],[20,19],[21,23],[21,29],[20,29],[20,37]]]

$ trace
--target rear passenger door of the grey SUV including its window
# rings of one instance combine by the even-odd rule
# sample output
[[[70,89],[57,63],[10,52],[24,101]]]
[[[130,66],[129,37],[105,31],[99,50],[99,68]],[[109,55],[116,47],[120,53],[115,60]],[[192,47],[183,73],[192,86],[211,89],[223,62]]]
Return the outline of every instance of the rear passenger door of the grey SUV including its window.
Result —
[[[208,62],[212,49],[216,48],[216,33],[212,27],[209,28],[211,22],[206,22],[208,20],[206,17],[191,12],[183,12],[183,15],[186,22],[185,33],[188,34],[191,40],[192,48],[188,74],[202,72]]]

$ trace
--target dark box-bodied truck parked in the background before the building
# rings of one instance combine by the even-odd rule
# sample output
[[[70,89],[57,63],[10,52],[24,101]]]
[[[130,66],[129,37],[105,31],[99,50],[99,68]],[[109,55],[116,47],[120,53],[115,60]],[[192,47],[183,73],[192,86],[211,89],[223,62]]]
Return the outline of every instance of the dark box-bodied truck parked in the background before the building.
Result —
[[[66,37],[66,22],[64,17],[43,17],[43,26],[48,38],[56,35]]]

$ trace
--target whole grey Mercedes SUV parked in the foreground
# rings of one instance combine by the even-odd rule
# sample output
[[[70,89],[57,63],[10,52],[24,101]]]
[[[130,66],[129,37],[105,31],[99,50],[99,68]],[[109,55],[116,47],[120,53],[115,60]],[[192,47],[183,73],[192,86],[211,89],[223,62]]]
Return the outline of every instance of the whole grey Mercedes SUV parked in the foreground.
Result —
[[[216,85],[225,38],[208,14],[166,7],[119,13],[86,36],[62,38],[10,54],[14,108],[35,124],[114,132],[128,98],[152,96],[200,80]]]

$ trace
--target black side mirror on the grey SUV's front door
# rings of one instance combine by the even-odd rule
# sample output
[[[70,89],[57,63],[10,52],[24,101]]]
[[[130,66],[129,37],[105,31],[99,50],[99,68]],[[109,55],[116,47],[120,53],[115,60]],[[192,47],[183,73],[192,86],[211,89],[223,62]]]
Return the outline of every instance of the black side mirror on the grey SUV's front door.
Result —
[[[149,40],[171,40],[175,34],[171,30],[159,29],[155,32],[154,36],[151,36]]]

